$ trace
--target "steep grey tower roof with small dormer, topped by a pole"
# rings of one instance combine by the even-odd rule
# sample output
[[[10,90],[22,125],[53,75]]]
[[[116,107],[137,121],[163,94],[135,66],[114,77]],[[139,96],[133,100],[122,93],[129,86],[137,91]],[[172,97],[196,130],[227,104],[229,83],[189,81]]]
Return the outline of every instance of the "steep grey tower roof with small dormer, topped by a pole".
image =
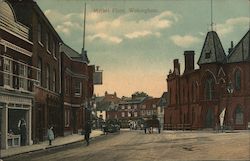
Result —
[[[207,33],[198,64],[224,63],[226,54],[215,31]]]

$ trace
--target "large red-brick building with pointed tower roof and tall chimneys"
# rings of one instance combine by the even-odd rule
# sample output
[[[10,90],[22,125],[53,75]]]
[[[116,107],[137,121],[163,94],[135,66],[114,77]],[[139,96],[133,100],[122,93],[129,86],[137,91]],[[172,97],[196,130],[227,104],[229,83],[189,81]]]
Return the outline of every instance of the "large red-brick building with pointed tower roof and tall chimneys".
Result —
[[[194,51],[185,51],[185,70],[178,59],[167,77],[169,105],[165,124],[190,124],[193,129],[217,128],[225,109],[224,126],[247,129],[250,122],[249,31],[224,52],[215,31],[207,33],[194,69]],[[222,116],[222,115],[221,115]]]

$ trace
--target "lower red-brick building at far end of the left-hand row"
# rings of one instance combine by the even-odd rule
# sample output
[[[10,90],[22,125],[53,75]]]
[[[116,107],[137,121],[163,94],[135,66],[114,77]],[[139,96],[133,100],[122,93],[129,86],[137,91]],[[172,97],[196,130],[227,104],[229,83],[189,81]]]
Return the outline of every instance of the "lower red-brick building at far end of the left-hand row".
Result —
[[[88,65],[88,59],[61,44],[61,72],[64,135],[78,133],[84,122],[93,96],[93,73],[95,66]]]

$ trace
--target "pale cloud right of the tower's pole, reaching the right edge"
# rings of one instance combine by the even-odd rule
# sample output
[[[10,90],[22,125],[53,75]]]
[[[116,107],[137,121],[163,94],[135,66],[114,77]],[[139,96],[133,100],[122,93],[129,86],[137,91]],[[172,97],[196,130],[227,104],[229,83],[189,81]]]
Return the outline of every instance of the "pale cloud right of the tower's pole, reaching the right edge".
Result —
[[[220,36],[225,36],[234,31],[237,26],[246,26],[249,23],[248,17],[237,17],[227,19],[224,23],[215,26],[217,33]]]

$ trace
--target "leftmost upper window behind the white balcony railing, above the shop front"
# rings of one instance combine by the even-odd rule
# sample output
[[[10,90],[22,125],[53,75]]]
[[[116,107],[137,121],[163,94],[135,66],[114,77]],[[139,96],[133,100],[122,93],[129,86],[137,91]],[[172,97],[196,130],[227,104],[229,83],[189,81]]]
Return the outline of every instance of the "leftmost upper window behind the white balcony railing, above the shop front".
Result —
[[[12,86],[12,65],[11,60],[4,58],[4,85],[11,87]]]

